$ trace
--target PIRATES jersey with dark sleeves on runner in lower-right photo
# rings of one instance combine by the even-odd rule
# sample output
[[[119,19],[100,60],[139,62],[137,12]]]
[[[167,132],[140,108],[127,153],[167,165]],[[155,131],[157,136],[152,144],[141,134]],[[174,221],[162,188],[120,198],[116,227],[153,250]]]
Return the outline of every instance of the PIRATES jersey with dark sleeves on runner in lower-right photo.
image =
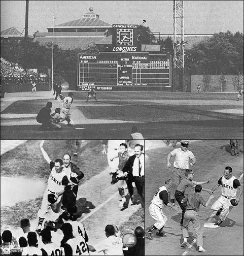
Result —
[[[237,187],[240,186],[240,182],[235,176],[232,176],[230,179],[226,179],[225,176],[223,176],[218,180],[218,184],[222,186],[222,195],[228,197],[229,199],[235,198]]]

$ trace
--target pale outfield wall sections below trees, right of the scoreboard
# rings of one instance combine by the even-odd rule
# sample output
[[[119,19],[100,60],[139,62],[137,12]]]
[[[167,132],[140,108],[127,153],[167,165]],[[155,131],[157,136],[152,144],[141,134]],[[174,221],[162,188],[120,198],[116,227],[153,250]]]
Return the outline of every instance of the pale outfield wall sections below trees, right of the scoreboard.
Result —
[[[221,76],[210,76],[210,86],[206,91],[218,91],[221,92],[220,86],[220,77]],[[225,75],[226,78],[226,89],[225,92],[237,92],[238,88],[234,86],[233,79],[237,76],[234,75]],[[243,76],[240,76],[239,85],[243,87]],[[197,91],[197,85],[201,86],[201,91],[203,91],[203,75],[191,75],[191,92]],[[223,91],[223,90],[222,90]]]

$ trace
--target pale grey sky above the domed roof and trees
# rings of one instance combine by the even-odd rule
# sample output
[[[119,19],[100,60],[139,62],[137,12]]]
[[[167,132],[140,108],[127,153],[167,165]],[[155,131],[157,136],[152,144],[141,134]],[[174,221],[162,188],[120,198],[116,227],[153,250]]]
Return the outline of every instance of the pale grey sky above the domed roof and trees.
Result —
[[[185,34],[214,34],[230,30],[243,33],[243,1],[184,1]],[[31,35],[47,27],[93,12],[111,24],[142,24],[151,31],[173,34],[173,1],[29,1]],[[1,31],[25,26],[25,1],[1,1]]]

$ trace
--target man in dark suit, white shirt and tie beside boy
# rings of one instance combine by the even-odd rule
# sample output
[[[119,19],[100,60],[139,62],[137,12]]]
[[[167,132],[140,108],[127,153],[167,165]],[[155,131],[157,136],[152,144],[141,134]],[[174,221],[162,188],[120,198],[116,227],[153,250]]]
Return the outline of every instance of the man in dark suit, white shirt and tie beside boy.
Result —
[[[131,203],[134,204],[134,189],[132,182],[135,183],[137,193],[142,198],[142,207],[144,208],[144,153],[143,145],[136,144],[134,146],[134,155],[130,156],[126,162],[122,172],[127,175],[126,183],[129,191]]]

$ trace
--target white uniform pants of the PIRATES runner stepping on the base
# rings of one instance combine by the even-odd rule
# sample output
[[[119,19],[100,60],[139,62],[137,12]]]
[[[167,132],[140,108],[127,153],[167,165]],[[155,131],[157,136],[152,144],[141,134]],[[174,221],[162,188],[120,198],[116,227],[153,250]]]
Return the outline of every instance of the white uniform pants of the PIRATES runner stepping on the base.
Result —
[[[223,210],[221,211],[219,217],[220,217],[220,220],[224,221],[233,208],[232,204],[230,203],[230,199],[227,199],[224,196],[220,196],[217,199],[217,201],[215,201],[211,206],[211,210],[214,211],[213,214],[216,214],[216,212],[220,208],[222,208]]]

